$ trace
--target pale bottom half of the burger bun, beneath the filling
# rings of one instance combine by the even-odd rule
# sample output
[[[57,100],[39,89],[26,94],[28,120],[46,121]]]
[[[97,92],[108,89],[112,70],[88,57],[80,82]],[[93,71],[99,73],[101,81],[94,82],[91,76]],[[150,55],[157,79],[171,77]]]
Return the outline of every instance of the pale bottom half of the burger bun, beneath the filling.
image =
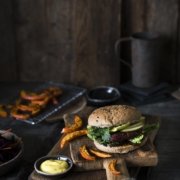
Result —
[[[94,145],[96,146],[97,149],[104,151],[104,152],[123,154],[123,153],[128,153],[130,151],[140,148],[141,146],[143,146],[146,143],[146,141],[147,141],[147,137],[144,138],[142,143],[139,145],[125,144],[125,145],[121,145],[121,146],[111,147],[111,146],[104,146],[102,144],[99,144],[97,141],[94,141]]]

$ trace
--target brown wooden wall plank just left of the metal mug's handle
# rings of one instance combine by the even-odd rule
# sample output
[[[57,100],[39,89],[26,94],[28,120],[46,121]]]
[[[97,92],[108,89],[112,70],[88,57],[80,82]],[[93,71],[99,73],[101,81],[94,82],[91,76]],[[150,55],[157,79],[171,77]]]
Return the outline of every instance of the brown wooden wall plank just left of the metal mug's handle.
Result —
[[[120,37],[120,0],[74,1],[72,81],[85,86],[119,84],[119,61],[114,53]]]

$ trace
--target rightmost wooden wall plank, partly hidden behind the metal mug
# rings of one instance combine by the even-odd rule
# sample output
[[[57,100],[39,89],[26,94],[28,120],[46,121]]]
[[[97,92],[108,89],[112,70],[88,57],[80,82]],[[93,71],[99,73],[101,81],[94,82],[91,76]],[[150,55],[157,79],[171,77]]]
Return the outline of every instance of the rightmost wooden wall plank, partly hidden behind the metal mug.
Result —
[[[161,79],[173,82],[177,81],[178,3],[178,0],[147,1],[147,29],[160,32],[165,39]]]

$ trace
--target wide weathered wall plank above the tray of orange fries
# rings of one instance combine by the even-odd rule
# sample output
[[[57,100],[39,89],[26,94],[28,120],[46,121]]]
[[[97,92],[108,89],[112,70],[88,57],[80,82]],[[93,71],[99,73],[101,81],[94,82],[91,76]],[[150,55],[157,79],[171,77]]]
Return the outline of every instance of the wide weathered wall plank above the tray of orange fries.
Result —
[[[70,81],[70,0],[16,0],[21,80]]]

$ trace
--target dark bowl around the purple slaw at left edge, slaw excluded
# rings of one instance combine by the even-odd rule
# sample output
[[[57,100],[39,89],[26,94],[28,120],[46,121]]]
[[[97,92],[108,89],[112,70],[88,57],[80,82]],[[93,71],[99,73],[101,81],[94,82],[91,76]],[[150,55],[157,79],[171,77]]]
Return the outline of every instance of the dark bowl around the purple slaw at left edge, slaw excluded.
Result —
[[[13,140],[15,143],[18,143],[16,155],[13,156],[10,160],[0,164],[0,176],[2,176],[6,173],[9,173],[9,171],[13,170],[13,168],[16,168],[18,166],[18,163],[22,159],[24,148],[23,148],[23,142],[16,134],[5,130],[0,130],[0,134],[4,138],[8,140]]]

